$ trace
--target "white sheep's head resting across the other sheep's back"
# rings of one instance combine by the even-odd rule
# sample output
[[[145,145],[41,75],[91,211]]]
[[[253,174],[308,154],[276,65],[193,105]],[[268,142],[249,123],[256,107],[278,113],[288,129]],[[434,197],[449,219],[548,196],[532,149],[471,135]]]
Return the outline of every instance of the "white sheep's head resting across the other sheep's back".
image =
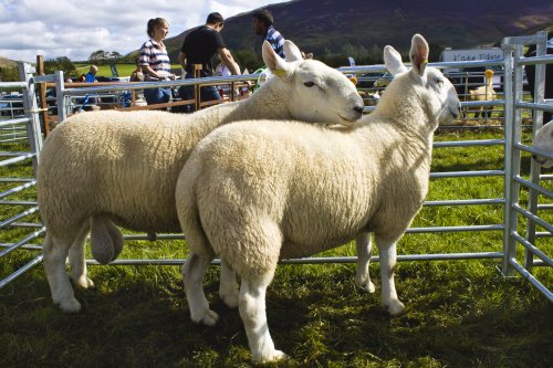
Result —
[[[263,61],[274,74],[267,84],[284,96],[290,117],[304,122],[352,125],[363,114],[363,99],[344,74],[315,60],[303,60],[291,41],[284,42],[286,61],[263,43]]]

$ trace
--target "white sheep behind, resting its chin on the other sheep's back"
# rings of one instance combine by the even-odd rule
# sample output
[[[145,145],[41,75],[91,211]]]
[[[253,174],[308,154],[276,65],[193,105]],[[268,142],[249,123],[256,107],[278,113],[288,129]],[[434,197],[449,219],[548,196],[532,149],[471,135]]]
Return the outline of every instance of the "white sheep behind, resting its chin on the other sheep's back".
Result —
[[[84,259],[90,229],[93,255],[103,263],[123,248],[114,223],[149,233],[180,231],[175,208],[178,175],[191,149],[217,126],[267,117],[351,125],[362,116],[363,101],[342,73],[317,61],[303,61],[291,42],[285,50],[294,62],[283,61],[269,43],[263,44],[264,62],[276,77],[248,99],[192,115],[86,113],[52,132],[41,153],[38,193],[48,228],[44,269],[52,298],[62,311],[81,307],[64,270],[67,253],[73,282],[84,288],[93,285]],[[221,284],[221,293],[233,286]]]

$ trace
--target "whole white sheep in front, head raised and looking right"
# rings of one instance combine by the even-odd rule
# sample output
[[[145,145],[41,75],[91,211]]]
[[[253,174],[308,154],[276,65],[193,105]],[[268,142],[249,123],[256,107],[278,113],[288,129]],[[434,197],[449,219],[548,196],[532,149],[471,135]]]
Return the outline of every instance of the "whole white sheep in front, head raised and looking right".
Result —
[[[386,46],[386,65],[398,53]],[[369,233],[380,255],[383,305],[404,312],[394,285],[396,242],[428,190],[434,130],[460,112],[451,83],[427,67],[416,34],[409,72],[376,109],[346,128],[240,122],[204,138],[177,182],[177,211],[191,253],[182,267],[191,319],[213,325],[201,281],[217,254],[241,277],[239,312],[255,361],[279,360],[267,325],[265,290],[279,259],[309,256],[356,239],[371,284]],[[405,71],[401,65],[401,71]]]

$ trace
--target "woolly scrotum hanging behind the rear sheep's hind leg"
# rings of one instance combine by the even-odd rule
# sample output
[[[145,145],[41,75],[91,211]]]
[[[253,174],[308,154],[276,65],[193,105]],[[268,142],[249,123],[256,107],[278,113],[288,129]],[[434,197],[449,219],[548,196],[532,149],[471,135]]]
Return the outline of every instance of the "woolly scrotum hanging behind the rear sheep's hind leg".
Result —
[[[123,234],[107,218],[93,215],[91,218],[91,251],[94,260],[107,264],[123,251]]]

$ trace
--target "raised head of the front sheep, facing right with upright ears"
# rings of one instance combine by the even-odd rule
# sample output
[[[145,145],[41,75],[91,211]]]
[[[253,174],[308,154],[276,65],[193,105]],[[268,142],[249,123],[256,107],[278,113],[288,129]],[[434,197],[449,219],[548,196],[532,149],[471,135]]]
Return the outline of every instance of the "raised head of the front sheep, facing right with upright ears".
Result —
[[[386,67],[390,73],[398,75],[386,88],[384,97],[393,95],[399,108],[404,108],[399,106],[399,101],[421,104],[431,125],[427,128],[434,132],[438,124],[449,124],[459,116],[460,102],[451,82],[439,70],[427,65],[428,53],[426,40],[420,34],[415,34],[409,52],[411,69],[407,70],[399,53],[394,48],[386,46],[384,49]],[[407,91],[413,91],[414,94]]]

